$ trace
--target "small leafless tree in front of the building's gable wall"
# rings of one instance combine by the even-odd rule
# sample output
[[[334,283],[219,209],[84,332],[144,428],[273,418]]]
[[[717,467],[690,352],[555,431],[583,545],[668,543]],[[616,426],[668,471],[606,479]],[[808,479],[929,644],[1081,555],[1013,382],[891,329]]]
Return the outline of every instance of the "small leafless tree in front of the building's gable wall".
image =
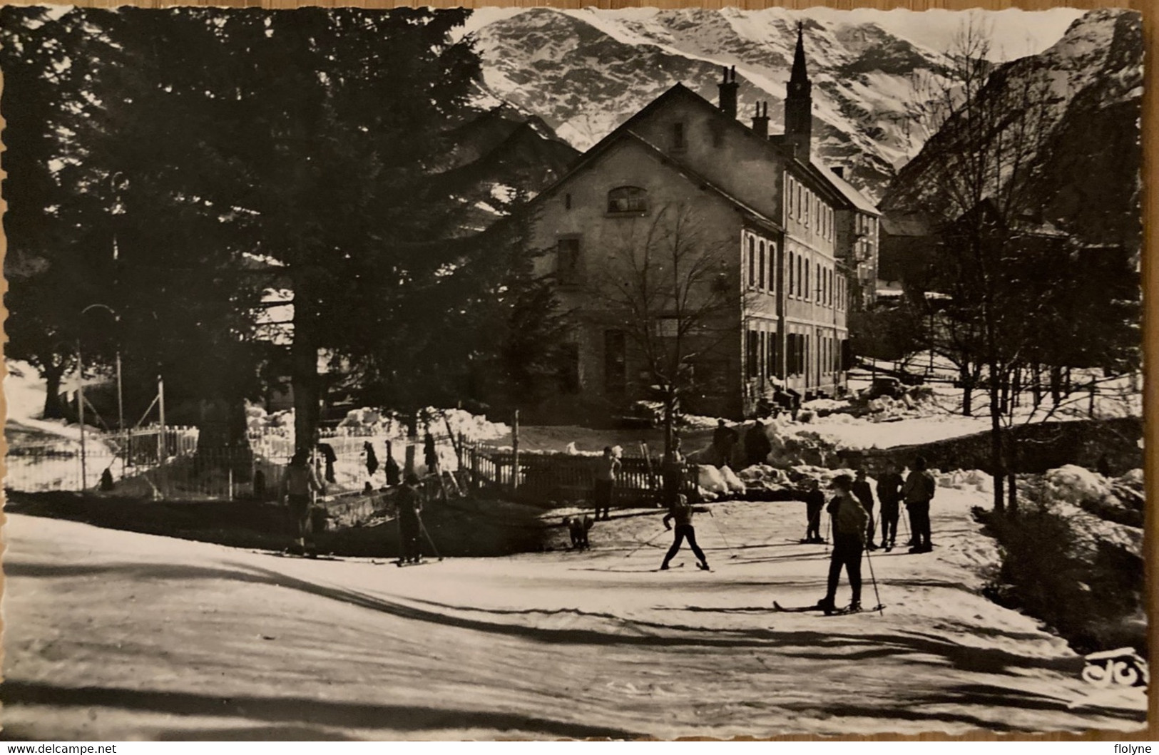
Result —
[[[705,379],[693,365],[739,339],[745,296],[737,244],[715,237],[690,206],[669,204],[627,221],[589,280],[596,316],[624,331],[663,404],[665,454],[681,397]]]

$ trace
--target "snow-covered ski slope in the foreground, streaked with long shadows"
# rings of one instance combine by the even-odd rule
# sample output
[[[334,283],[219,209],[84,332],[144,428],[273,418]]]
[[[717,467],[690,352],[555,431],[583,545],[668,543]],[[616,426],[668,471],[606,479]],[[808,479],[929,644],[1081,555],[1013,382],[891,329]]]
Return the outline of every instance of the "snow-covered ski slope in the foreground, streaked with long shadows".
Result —
[[[644,511],[597,523],[590,552],[411,569],[9,515],[6,734],[1137,730],[1142,691],[1095,692],[1063,640],[979,594],[997,563],[969,514],[983,498],[939,490],[938,548],[875,554],[884,614],[845,617],[770,610],[824,592],[825,550],[797,543],[796,503],[698,514],[712,572],[686,550],[654,572],[669,536]]]

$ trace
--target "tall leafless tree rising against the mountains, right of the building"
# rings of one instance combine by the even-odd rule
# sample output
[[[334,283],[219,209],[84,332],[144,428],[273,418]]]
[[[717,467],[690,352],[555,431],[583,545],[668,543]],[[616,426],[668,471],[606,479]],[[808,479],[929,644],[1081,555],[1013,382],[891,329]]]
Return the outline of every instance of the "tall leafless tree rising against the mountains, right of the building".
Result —
[[[971,19],[956,35],[947,67],[916,80],[912,117],[934,135],[903,170],[916,179],[902,201],[939,228],[927,285],[947,298],[924,301],[926,343],[956,365],[968,413],[982,378],[994,507],[1003,510],[1004,482],[1015,501],[1016,449],[1007,448],[1005,432],[1014,423],[1014,395],[1027,366],[1041,357],[1040,323],[1057,320],[1056,300],[1036,294],[1048,294],[1057,280],[1059,266],[1050,256],[1066,240],[1044,233],[1041,222],[1040,166],[1049,159],[1058,101],[1051,79],[1034,58],[996,66],[990,38],[990,29]],[[1058,262],[1065,261],[1062,254]]]

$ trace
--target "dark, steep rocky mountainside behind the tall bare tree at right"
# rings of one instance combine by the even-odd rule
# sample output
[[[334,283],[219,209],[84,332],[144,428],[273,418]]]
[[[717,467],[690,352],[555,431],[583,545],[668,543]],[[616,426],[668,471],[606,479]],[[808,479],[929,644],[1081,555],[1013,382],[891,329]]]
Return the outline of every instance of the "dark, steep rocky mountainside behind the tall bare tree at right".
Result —
[[[1140,233],[1138,118],[1143,97],[1143,29],[1138,13],[1092,10],[1051,47],[1006,64],[1009,91],[1049,85],[1049,137],[1034,175],[1045,215],[1088,242],[1136,245]],[[979,97],[994,97],[983,89]],[[882,200],[897,212],[933,211],[931,174],[940,145],[956,139],[954,123],[930,139],[898,173]]]

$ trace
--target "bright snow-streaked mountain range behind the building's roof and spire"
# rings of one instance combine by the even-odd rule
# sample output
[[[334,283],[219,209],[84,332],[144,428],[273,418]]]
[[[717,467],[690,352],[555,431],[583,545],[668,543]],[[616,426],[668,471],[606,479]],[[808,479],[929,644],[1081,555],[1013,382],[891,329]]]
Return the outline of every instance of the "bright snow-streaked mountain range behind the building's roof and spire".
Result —
[[[912,132],[904,116],[910,76],[936,73],[942,58],[876,23],[782,8],[535,8],[502,14],[473,34],[486,86],[586,149],[677,81],[715,101],[724,65],[737,69],[741,117],[767,101],[770,130],[779,132],[799,21],[814,83],[817,149],[879,196],[926,137]]]

